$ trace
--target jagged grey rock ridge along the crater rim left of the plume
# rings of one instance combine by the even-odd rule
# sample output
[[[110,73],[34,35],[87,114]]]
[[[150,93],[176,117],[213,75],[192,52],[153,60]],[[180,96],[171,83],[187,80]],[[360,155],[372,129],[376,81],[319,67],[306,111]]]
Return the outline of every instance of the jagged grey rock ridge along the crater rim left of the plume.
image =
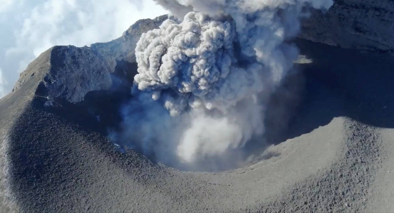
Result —
[[[42,79],[36,95],[68,102],[81,102],[90,91],[106,90],[112,86],[111,73],[117,65],[135,63],[134,49],[143,32],[158,28],[167,15],[156,19],[141,19],[130,26],[121,37],[91,47],[54,46],[30,63],[20,74],[13,91],[30,79]],[[31,81],[33,82],[33,81]]]

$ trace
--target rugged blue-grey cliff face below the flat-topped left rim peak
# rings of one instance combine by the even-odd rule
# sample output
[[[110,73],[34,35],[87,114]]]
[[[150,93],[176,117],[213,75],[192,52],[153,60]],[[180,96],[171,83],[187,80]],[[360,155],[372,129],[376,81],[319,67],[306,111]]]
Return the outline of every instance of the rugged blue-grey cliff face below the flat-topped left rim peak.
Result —
[[[88,47],[55,46],[49,61],[50,69],[37,87],[38,96],[80,102],[87,92],[112,85],[110,69]]]

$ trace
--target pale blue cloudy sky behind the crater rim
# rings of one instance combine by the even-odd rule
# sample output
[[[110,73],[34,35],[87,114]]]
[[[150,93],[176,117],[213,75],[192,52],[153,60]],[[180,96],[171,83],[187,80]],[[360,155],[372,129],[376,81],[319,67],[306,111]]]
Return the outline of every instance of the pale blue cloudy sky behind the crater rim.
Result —
[[[0,0],[0,97],[51,46],[111,41],[166,13],[152,0]]]

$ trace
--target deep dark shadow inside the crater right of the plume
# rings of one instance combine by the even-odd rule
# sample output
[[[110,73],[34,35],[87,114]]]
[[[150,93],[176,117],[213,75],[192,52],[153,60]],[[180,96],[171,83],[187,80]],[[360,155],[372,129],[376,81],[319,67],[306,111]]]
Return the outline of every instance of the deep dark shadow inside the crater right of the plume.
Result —
[[[295,43],[300,54],[312,63],[296,65],[304,81],[299,104],[289,106],[291,116],[285,117],[279,128],[269,124],[268,120],[269,144],[312,132],[329,124],[335,117],[349,117],[370,126],[394,128],[392,54],[338,48],[303,39],[297,39]],[[268,117],[270,113],[276,113],[275,104],[270,107]]]

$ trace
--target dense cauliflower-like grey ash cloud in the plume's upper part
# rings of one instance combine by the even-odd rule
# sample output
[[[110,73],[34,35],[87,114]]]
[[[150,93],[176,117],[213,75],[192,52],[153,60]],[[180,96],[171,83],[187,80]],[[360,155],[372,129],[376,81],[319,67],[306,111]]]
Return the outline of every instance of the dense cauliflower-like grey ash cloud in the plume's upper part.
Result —
[[[263,88],[263,66],[236,54],[234,22],[188,13],[181,24],[166,20],[137,43],[138,89],[164,93],[172,116],[186,107],[225,111]],[[267,71],[267,70],[266,70]],[[265,71],[265,72],[266,72]]]

